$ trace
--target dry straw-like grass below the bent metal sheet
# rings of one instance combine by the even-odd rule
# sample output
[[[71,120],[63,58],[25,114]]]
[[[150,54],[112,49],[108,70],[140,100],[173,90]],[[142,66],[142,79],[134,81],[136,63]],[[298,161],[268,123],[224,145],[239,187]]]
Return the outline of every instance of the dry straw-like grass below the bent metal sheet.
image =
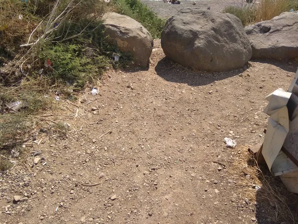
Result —
[[[289,205],[295,205],[298,200],[297,195],[288,192],[280,179],[272,177],[269,170],[261,170],[247,149],[248,146],[240,147],[240,154],[232,164],[230,171],[235,179],[238,178],[236,186],[239,188],[240,197],[257,203],[257,219],[270,218],[274,223],[296,224],[298,214],[295,214]],[[249,179],[245,177],[248,174],[250,175]],[[261,188],[256,190],[256,185]],[[262,210],[268,212],[262,213]]]

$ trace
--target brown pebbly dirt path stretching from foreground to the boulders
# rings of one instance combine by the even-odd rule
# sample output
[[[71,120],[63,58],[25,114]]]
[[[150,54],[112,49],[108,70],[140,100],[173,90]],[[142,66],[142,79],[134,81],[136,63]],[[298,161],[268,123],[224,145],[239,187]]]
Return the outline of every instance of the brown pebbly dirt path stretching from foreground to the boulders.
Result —
[[[24,148],[24,163],[37,164],[17,161],[0,177],[0,224],[275,223],[245,193],[255,194],[253,179],[234,172],[247,145],[263,141],[265,96],[287,90],[297,69],[271,63],[192,71],[166,59],[155,40],[149,70],[110,70],[98,95],[55,102],[66,115],[47,118],[70,130],[64,139],[37,134],[40,144]]]

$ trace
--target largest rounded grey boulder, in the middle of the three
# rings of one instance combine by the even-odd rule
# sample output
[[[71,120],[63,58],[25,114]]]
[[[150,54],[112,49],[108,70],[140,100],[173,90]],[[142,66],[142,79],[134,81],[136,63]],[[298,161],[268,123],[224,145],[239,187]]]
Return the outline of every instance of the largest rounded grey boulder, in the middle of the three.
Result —
[[[169,59],[203,71],[240,68],[251,58],[240,19],[210,10],[186,8],[169,18],[161,47]]]

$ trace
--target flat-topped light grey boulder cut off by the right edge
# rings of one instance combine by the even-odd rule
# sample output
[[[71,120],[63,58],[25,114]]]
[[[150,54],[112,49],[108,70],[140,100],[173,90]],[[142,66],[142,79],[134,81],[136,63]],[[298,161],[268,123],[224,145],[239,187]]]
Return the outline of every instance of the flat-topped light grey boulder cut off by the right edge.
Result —
[[[252,58],[298,57],[298,13],[284,12],[268,21],[245,27]]]

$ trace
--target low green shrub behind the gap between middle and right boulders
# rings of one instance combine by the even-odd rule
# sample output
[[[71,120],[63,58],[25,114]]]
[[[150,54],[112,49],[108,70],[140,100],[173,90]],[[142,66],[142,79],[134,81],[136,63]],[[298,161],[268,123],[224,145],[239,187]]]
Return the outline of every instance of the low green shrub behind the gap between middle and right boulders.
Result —
[[[224,12],[237,16],[243,26],[253,23],[256,17],[255,8],[249,5],[243,5],[242,7],[229,5],[224,8]]]

